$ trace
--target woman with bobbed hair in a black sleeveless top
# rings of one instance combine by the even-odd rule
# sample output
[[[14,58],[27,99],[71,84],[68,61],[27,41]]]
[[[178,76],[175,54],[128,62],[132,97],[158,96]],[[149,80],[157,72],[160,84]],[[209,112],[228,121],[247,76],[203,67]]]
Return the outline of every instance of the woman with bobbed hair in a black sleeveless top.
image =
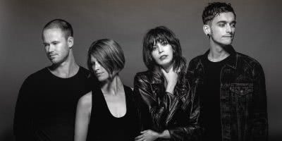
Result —
[[[123,50],[114,40],[99,39],[91,44],[87,66],[98,84],[78,101],[75,141],[127,141],[137,136],[133,90],[118,76],[124,64]]]

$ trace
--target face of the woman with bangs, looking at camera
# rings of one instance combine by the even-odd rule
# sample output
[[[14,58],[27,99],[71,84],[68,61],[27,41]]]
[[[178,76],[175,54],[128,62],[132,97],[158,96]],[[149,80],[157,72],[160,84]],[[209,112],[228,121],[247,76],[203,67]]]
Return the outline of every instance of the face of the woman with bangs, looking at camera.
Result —
[[[171,44],[166,42],[154,44],[152,50],[152,56],[154,61],[163,68],[171,66],[173,61],[173,49]]]

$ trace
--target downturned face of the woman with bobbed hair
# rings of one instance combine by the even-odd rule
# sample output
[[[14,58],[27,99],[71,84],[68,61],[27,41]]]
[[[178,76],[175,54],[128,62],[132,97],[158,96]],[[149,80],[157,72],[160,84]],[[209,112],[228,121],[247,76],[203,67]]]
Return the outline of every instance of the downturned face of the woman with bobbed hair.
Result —
[[[99,61],[94,56],[91,56],[92,69],[94,71],[94,75],[99,80],[99,82],[103,82],[105,80],[109,80],[109,73],[106,69],[101,65]]]

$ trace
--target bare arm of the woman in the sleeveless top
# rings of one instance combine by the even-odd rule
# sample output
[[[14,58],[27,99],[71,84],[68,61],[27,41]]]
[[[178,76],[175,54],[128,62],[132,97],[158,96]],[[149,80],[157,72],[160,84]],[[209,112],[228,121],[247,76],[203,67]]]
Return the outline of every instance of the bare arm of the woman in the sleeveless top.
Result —
[[[78,101],[75,116],[75,141],[85,141],[92,109],[92,92],[85,94]]]

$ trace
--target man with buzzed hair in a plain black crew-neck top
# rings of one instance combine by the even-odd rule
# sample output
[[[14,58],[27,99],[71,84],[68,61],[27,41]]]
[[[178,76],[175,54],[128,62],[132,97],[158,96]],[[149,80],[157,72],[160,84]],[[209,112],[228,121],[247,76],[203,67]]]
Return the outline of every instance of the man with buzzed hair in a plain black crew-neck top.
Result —
[[[14,117],[16,140],[73,140],[78,99],[88,92],[89,71],[73,56],[73,28],[51,20],[42,30],[51,66],[28,76],[18,94]]]

